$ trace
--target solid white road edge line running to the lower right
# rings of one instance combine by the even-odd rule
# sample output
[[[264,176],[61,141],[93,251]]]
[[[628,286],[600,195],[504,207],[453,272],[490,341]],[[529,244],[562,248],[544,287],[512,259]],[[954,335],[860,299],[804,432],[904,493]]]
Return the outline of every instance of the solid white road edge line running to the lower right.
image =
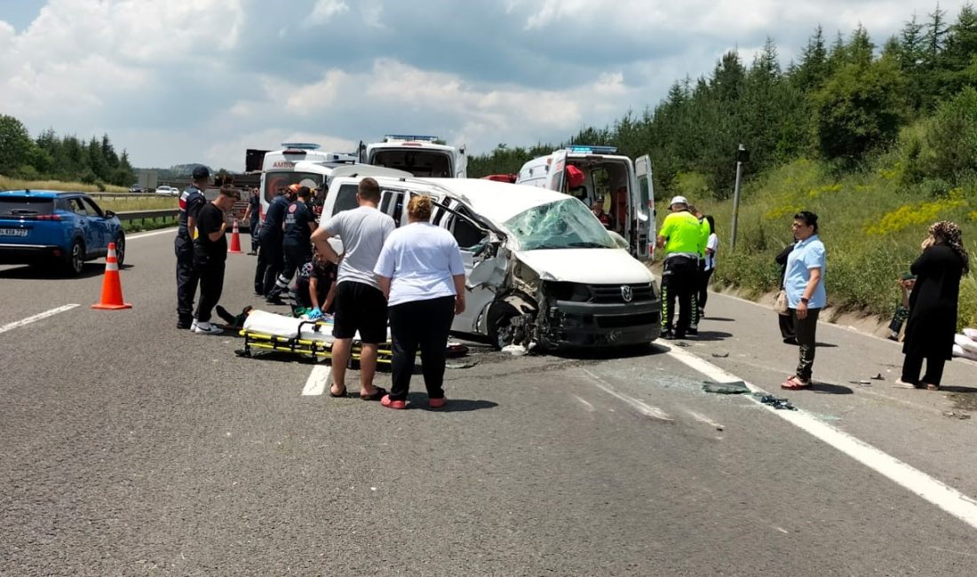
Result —
[[[724,371],[691,352],[672,348],[666,354],[714,381],[743,381],[736,375]],[[743,381],[743,383],[746,382]],[[750,383],[746,383],[746,387],[752,392],[764,392]],[[752,396],[749,398],[754,402],[759,402]],[[777,410],[765,404],[761,404],[761,406],[801,431],[828,443],[828,445],[855,459],[875,473],[887,476],[895,483],[977,529],[977,501],[960,493],[950,485],[903,463],[887,453],[883,453],[863,440],[822,423],[807,411]]]

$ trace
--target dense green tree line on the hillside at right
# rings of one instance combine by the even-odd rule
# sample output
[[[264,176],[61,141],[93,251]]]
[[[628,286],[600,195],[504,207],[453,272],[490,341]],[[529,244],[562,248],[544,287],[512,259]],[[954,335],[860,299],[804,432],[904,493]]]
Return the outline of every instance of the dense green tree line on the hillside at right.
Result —
[[[833,39],[818,26],[786,69],[770,39],[749,65],[733,50],[708,76],[673,83],[654,108],[584,127],[567,143],[499,144],[472,157],[469,173],[515,173],[566,144],[606,144],[632,157],[650,153],[659,190],[691,180],[722,199],[732,193],[743,144],[752,174],[802,157],[853,171],[896,154],[907,184],[935,181],[945,189],[974,179],[975,86],[977,12],[970,4],[956,21],[939,7],[924,20],[913,15],[881,46],[861,24]]]

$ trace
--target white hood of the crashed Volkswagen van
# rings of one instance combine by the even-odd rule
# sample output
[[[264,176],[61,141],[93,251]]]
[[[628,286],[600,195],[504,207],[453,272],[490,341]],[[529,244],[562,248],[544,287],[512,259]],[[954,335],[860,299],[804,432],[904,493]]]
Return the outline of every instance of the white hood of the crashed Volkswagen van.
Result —
[[[543,280],[584,284],[652,282],[652,271],[623,249],[547,249],[517,251],[516,258]]]

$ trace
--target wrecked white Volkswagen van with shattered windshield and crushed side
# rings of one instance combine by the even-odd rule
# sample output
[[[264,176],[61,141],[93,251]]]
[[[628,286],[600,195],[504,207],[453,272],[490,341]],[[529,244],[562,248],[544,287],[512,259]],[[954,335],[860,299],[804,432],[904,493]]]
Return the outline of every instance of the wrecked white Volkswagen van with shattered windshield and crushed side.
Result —
[[[651,271],[576,198],[476,179],[377,177],[380,210],[399,226],[410,196],[435,201],[431,221],[461,247],[465,311],[452,332],[501,348],[620,347],[658,338],[661,307]],[[338,177],[322,216],[356,207],[359,178]]]

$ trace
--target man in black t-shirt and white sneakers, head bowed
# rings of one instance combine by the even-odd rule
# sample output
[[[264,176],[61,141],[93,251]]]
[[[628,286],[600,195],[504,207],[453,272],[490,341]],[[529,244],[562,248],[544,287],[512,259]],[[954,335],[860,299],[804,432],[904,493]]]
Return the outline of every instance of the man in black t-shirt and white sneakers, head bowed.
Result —
[[[219,335],[223,331],[210,323],[210,313],[221,300],[224,290],[224,262],[228,258],[228,222],[225,213],[234,208],[240,193],[234,185],[221,186],[221,193],[208,202],[196,219],[197,235],[193,241],[193,262],[200,277],[200,301],[196,306],[193,332]]]

